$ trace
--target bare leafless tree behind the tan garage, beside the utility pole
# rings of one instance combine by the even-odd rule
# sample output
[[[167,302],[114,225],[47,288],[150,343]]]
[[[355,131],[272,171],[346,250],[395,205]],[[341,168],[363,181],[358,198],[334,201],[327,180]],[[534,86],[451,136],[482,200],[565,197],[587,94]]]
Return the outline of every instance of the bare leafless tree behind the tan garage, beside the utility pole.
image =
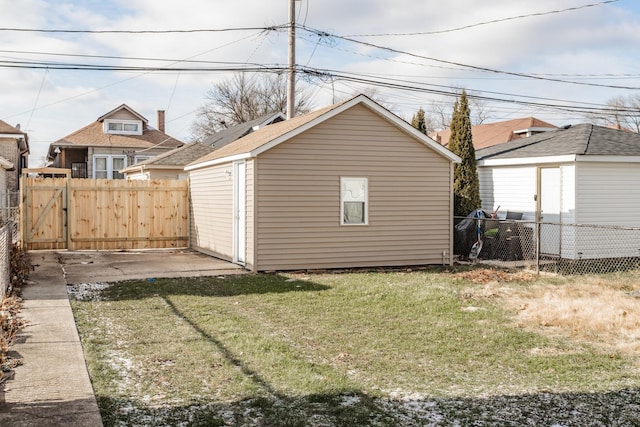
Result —
[[[296,85],[299,88],[300,85]],[[285,112],[287,79],[284,74],[250,75],[237,73],[215,84],[205,93],[206,102],[198,109],[191,125],[191,138],[201,141],[209,135],[266,114]],[[296,91],[296,113],[308,113],[311,98],[303,89]]]

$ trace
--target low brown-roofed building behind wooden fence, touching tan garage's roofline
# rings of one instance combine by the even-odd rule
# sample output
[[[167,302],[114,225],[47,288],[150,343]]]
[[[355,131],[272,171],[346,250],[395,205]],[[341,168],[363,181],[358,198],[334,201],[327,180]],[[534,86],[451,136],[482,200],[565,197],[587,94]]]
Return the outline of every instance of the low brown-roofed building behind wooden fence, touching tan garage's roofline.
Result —
[[[198,142],[185,144],[166,153],[121,169],[126,179],[186,179],[184,167],[211,153],[213,147]]]

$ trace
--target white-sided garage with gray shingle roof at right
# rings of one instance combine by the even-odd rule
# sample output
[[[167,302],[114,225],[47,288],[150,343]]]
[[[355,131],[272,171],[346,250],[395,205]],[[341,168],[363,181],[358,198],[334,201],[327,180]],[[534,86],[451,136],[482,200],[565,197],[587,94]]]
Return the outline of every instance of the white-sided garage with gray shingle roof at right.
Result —
[[[476,151],[482,207],[553,223],[541,254],[566,259],[637,257],[637,245],[580,225],[640,227],[640,135],[581,124]],[[570,226],[564,226],[570,225]],[[613,232],[612,232],[613,233]]]

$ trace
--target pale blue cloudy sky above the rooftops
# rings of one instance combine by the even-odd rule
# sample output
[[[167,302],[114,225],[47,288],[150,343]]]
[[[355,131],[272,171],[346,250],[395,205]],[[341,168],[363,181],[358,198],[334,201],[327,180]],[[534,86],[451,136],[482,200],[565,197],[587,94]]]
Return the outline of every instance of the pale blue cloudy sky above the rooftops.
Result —
[[[165,110],[167,133],[188,141],[225,70],[286,67],[288,8],[289,0],[0,0],[0,119],[29,133],[34,167],[50,143],[123,103],[153,126]],[[489,121],[564,125],[640,93],[636,0],[301,0],[296,8],[296,63],[316,108],[373,87],[410,119],[420,107],[449,108],[465,88],[485,98]]]

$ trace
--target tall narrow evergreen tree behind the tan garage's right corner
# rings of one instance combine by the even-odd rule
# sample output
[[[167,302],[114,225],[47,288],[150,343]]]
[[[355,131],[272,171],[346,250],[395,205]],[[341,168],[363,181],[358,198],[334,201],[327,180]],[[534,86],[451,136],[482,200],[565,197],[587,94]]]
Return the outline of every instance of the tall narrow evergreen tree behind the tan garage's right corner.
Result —
[[[454,215],[466,216],[480,208],[480,182],[476,169],[476,152],[471,137],[471,114],[467,92],[462,91],[453,105],[449,150],[457,154],[462,162],[454,165],[453,195]]]

